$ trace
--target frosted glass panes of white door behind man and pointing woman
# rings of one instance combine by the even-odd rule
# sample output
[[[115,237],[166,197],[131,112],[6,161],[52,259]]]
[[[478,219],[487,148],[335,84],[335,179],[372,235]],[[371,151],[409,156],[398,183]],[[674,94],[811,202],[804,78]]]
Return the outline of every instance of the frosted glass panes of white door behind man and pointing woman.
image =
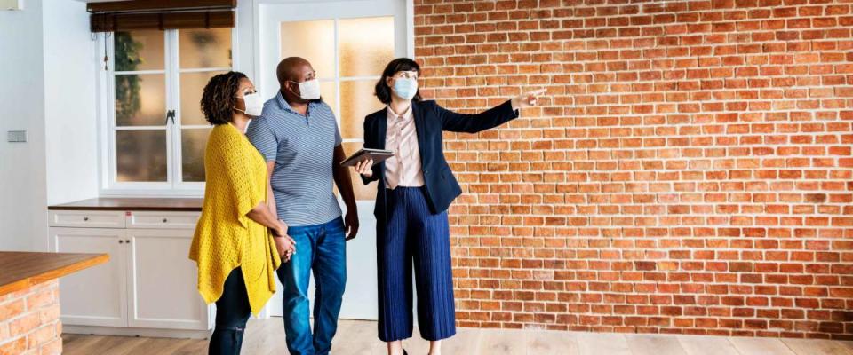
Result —
[[[307,59],[320,80],[323,100],[338,116],[344,151],[363,146],[364,116],[384,107],[373,96],[382,70],[395,58],[394,17],[281,22],[281,59]],[[357,200],[373,200],[376,182],[353,177]]]

